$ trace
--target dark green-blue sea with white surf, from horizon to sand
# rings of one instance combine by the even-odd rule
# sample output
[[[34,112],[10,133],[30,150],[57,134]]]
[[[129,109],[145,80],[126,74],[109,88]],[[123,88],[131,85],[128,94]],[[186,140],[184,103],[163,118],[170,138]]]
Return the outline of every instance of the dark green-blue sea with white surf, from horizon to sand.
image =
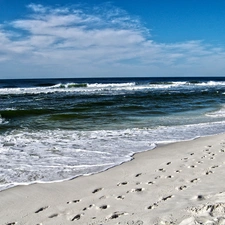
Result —
[[[223,132],[225,77],[0,80],[0,190]]]

